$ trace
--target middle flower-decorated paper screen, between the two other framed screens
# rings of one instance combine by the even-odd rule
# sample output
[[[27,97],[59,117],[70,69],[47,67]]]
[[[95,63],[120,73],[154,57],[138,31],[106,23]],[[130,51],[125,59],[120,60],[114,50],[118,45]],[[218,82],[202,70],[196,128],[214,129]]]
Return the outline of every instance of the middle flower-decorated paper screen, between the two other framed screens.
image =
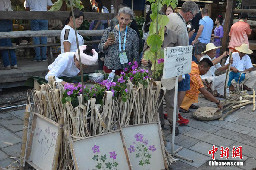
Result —
[[[120,131],[74,140],[72,145],[79,169],[129,169]]]

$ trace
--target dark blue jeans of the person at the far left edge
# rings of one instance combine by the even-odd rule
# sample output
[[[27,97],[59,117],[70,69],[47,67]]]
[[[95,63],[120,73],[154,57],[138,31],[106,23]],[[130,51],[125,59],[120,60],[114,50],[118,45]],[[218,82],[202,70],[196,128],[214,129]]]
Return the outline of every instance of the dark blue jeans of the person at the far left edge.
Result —
[[[0,32],[10,32],[12,31],[12,22],[11,20],[0,20]],[[0,39],[0,46],[12,46],[11,39],[4,38]],[[8,50],[4,49],[1,50],[2,56],[3,56],[3,64],[4,66],[9,66],[9,56],[8,56]],[[17,64],[17,59],[15,55],[14,49],[9,49],[9,53],[11,55],[11,65],[14,66]]]

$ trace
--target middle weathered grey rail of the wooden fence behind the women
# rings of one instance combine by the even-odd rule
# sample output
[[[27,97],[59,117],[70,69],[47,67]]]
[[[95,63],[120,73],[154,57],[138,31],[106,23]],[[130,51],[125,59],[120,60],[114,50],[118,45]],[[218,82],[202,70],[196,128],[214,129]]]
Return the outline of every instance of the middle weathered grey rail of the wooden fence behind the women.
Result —
[[[77,30],[82,36],[102,36],[104,30]],[[1,32],[0,38],[21,38],[21,37],[56,37],[61,35],[61,30],[41,31],[13,31]]]

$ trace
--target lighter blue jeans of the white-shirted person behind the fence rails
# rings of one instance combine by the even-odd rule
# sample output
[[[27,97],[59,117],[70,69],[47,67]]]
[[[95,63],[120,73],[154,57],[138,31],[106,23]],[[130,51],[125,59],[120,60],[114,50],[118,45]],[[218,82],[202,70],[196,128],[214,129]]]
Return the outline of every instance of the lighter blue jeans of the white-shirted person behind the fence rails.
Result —
[[[40,30],[48,30],[48,20],[43,20],[43,19],[31,19],[30,20],[30,26],[31,30],[33,31],[40,31]],[[33,38],[34,45],[39,45],[40,42],[41,44],[47,44],[47,37],[34,37]],[[41,51],[42,49],[42,56],[41,56]],[[47,47],[35,47],[35,52],[36,52],[36,60],[41,60],[46,59],[46,49]]]

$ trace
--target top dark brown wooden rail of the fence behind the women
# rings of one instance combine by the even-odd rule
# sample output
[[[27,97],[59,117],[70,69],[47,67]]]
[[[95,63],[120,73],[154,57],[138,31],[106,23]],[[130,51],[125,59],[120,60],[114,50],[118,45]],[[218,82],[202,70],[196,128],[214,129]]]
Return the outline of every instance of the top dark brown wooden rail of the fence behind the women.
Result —
[[[60,19],[69,17],[68,11],[0,11],[1,19]],[[111,20],[113,13],[84,12],[87,20]]]

